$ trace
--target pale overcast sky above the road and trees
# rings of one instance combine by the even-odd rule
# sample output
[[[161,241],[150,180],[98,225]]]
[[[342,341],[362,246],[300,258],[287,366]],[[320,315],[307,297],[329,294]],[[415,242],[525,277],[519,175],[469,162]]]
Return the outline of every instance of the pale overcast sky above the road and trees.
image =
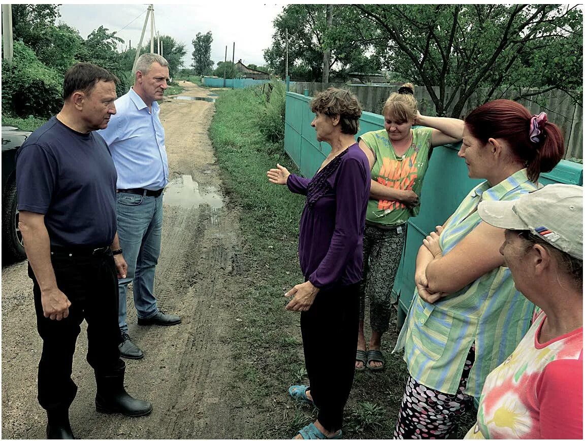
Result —
[[[83,38],[87,38],[92,30],[102,25],[110,32],[117,31],[117,35],[124,39],[124,48],[129,44],[129,40],[136,48],[141,37],[147,6],[147,4],[138,3],[63,4],[58,22],[65,22],[76,28]],[[272,22],[283,6],[284,3],[227,0],[195,1],[190,4],[163,2],[153,4],[156,31],[185,43],[184,67],[189,67],[191,64],[191,53],[194,50],[191,40],[198,32],[206,33],[208,30],[212,32],[211,58],[214,65],[224,61],[225,46],[228,46],[227,60],[232,60],[233,42],[235,42],[235,63],[242,59],[245,65],[250,63],[264,65],[263,50],[271,46],[271,36],[274,33]],[[149,21],[143,45],[150,41],[150,29]],[[123,49],[122,44],[119,45],[119,49]]]

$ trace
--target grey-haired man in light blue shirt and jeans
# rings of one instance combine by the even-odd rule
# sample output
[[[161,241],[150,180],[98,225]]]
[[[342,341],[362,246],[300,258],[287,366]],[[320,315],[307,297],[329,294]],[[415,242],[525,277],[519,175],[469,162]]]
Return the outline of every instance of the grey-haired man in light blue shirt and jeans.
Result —
[[[134,306],[139,325],[175,325],[181,318],[165,314],[153,295],[155,267],[161,250],[163,189],[169,182],[165,132],[159,120],[157,100],[167,89],[167,60],[154,53],[139,57],[134,86],[115,101],[116,115],[98,133],[112,152],[118,172],[116,217],[120,247],[128,264],[119,279],[119,326],[123,343],[120,356],[143,358],[131,341],[126,323],[127,286],[133,282]]]

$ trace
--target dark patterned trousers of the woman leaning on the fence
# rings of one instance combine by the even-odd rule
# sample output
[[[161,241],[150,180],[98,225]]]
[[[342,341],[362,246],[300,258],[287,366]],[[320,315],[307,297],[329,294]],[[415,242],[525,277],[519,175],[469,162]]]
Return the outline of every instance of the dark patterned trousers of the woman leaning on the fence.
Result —
[[[365,297],[369,296],[371,329],[384,333],[392,314],[392,288],[406,243],[407,224],[401,232],[366,225],[363,236],[363,280],[359,320],[365,320]]]

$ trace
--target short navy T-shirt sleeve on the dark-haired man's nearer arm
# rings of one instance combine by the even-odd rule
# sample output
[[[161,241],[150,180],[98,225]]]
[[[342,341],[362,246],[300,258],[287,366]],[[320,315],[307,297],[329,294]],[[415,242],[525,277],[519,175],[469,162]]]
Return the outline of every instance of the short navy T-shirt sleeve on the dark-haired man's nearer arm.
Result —
[[[55,157],[38,144],[21,147],[16,156],[19,211],[45,214],[59,174]]]

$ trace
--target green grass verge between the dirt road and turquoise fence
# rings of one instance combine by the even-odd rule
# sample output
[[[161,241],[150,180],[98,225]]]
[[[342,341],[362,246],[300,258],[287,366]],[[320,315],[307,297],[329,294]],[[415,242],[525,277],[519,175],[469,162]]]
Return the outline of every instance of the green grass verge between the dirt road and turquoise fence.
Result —
[[[298,170],[286,157],[282,141],[271,143],[259,130],[268,105],[258,90],[219,90],[218,94],[210,138],[231,203],[241,207],[247,259],[242,279],[235,280],[245,287],[239,299],[245,332],[240,328],[231,336],[234,357],[242,367],[235,374],[234,387],[253,415],[242,437],[291,437],[315,418],[311,409],[292,402],[286,392],[291,384],[308,384],[299,314],[284,310],[283,297],[303,281],[297,243],[304,199],[285,186],[269,184],[265,172],[275,162],[291,172]],[[343,426],[347,438],[393,437],[407,378],[402,357],[391,354],[397,339],[395,320],[393,315],[382,341],[386,371],[356,372]],[[365,321],[369,323],[368,315]],[[328,363],[327,352],[324,362]],[[457,436],[462,437],[472,424],[465,420]]]

